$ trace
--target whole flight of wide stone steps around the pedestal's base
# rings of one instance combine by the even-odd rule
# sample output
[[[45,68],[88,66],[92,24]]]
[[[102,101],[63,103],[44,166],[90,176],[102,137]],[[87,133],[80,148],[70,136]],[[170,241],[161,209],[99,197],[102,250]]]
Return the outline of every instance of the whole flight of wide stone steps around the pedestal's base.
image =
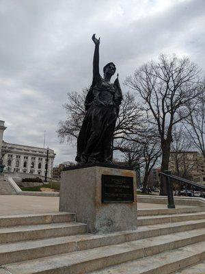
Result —
[[[137,230],[102,235],[68,212],[0,216],[0,274],[205,273],[205,208],[138,214]]]

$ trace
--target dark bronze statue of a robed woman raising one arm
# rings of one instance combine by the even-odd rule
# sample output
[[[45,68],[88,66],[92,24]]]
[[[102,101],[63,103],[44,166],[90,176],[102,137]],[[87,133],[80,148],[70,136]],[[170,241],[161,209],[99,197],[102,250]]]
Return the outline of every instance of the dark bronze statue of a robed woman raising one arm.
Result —
[[[122,102],[122,90],[117,79],[112,84],[115,64],[106,64],[104,77],[99,73],[100,38],[92,36],[95,44],[93,60],[93,80],[85,99],[85,118],[77,140],[76,161],[82,164],[111,162],[111,143],[119,106]]]

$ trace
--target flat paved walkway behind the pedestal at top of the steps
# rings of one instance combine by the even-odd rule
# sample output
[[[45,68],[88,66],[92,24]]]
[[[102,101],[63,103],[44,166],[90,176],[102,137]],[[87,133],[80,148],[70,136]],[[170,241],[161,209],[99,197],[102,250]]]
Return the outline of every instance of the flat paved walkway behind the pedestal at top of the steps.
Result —
[[[156,203],[138,203],[139,209],[167,208],[166,205]],[[58,212],[59,197],[0,195],[0,215],[35,214]],[[176,206],[187,208],[187,206]]]

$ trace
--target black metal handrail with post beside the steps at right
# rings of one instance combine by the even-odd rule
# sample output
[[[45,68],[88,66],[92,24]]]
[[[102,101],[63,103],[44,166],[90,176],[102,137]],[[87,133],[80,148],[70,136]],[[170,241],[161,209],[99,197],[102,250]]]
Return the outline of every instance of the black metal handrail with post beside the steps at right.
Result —
[[[182,177],[172,175],[171,171],[164,171],[159,174],[163,175],[166,180],[165,182],[167,186],[167,199],[168,199],[167,208],[175,208],[174,195],[173,195],[173,180],[178,181],[181,184],[187,184],[189,186],[194,186],[195,188],[205,190],[205,186],[201,186],[200,184],[196,184],[195,182],[189,181],[188,179],[184,179]]]

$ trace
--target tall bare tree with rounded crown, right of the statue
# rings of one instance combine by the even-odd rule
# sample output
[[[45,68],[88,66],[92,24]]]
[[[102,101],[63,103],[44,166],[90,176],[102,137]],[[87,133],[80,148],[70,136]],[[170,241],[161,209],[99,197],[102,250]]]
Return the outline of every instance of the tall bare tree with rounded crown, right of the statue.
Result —
[[[141,96],[142,109],[151,117],[161,138],[161,171],[169,166],[173,126],[186,119],[186,105],[200,93],[200,70],[188,58],[160,55],[158,62],[149,62],[137,69],[125,84]],[[160,195],[166,194],[163,176]]]

